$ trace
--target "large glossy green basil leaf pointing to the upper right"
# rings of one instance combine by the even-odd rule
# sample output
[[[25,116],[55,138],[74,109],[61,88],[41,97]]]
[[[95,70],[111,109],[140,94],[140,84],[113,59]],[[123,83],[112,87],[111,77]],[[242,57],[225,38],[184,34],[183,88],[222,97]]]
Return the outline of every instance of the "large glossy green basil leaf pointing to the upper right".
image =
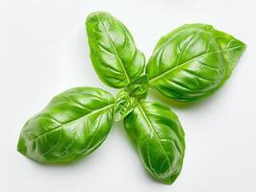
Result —
[[[225,83],[244,50],[210,25],[184,25],[159,40],[146,66],[149,84],[173,100],[197,100]]]

